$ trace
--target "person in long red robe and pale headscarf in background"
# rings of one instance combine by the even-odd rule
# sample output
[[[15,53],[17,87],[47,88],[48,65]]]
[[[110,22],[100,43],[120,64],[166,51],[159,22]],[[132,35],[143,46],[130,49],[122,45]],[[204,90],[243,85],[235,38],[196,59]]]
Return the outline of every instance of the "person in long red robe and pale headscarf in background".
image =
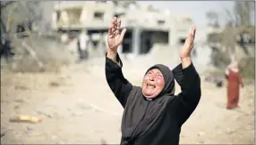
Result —
[[[227,66],[225,76],[227,80],[226,109],[235,109],[238,107],[240,85],[243,87],[243,80],[236,61],[232,61]]]

